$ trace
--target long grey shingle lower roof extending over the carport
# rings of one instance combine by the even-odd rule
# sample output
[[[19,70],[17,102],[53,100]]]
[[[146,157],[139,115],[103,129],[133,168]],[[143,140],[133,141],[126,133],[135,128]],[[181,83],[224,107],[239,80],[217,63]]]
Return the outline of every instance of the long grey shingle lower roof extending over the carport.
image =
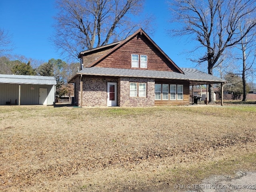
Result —
[[[91,67],[84,68],[77,74],[90,75],[90,76],[114,76],[114,77],[139,77],[139,78],[158,78],[158,79],[177,79],[189,80],[192,84],[200,83],[220,83],[225,80],[204,73],[200,70],[193,68],[180,68],[184,74],[169,71],[158,70],[138,70],[138,69],[121,69],[121,68],[102,68]],[[191,84],[191,83],[190,83]]]

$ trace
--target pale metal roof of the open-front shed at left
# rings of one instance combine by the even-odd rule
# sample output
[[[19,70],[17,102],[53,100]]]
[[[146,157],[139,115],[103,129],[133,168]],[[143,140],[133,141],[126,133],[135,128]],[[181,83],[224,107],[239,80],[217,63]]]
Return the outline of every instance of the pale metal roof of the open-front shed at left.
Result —
[[[56,85],[56,79],[46,76],[0,74],[0,83]]]

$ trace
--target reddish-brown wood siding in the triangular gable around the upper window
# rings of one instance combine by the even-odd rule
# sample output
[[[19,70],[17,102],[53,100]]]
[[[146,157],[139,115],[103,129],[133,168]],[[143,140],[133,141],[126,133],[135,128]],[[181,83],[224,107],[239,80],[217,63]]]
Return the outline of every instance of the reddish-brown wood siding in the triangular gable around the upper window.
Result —
[[[132,69],[131,55],[147,55],[147,68],[134,68],[141,70],[162,70],[178,72],[176,67],[160,52],[144,35],[137,35],[118,50],[100,61],[97,67]]]

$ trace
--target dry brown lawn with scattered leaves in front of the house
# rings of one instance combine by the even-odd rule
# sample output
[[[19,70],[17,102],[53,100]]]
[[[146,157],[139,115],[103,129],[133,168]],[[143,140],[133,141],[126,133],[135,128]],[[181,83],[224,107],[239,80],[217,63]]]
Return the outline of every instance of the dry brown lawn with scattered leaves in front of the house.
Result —
[[[174,190],[256,166],[256,106],[0,108],[1,191]]]

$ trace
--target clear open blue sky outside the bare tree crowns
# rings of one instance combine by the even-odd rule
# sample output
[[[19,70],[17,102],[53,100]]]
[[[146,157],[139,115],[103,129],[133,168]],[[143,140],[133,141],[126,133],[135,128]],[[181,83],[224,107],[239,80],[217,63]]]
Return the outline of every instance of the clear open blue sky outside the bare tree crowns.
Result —
[[[156,3],[157,2],[157,3]],[[48,61],[63,59],[49,41],[54,33],[54,0],[0,0],[0,28],[12,34],[13,54]],[[146,0],[145,12],[154,14],[157,26],[150,37],[180,67],[193,67],[182,54],[188,47],[182,40],[167,35],[170,18],[165,0]],[[82,51],[82,50],[81,50]]]

